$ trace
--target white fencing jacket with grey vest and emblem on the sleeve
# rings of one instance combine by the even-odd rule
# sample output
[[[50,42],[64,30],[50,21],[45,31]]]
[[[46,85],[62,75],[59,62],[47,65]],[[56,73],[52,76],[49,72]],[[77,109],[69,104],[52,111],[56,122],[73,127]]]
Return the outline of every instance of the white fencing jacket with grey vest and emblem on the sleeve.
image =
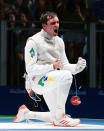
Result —
[[[59,36],[50,36],[43,29],[29,37],[25,46],[25,66],[29,77],[44,75],[53,69],[59,58],[61,69],[76,74],[76,64],[70,64],[65,54],[64,42]]]

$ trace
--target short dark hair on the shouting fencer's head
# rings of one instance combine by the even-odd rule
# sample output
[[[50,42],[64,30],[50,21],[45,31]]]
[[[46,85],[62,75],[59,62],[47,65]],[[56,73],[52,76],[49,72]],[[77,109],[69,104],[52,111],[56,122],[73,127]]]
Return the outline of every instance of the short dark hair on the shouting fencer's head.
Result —
[[[57,13],[55,12],[50,12],[50,11],[46,11],[46,12],[43,12],[40,16],[40,22],[42,24],[47,24],[47,21],[49,19],[52,19],[53,17],[57,16]],[[49,18],[48,18],[49,17]]]

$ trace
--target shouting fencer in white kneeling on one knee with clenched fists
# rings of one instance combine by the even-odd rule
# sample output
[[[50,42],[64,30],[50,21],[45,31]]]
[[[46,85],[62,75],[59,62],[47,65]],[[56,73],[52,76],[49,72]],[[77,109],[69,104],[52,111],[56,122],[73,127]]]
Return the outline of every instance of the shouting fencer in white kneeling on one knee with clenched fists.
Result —
[[[67,115],[65,104],[72,75],[84,70],[86,60],[80,57],[76,64],[68,62],[64,41],[58,36],[59,19],[56,13],[42,13],[40,21],[41,31],[29,37],[25,46],[26,90],[43,95],[49,112],[33,112],[22,105],[13,122],[38,119],[54,126],[77,126],[80,119]]]

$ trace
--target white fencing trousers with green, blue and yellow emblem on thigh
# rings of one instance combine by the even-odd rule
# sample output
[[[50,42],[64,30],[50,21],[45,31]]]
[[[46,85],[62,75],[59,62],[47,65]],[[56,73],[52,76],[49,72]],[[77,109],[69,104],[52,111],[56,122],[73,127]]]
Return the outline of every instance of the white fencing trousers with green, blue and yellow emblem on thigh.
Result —
[[[35,81],[34,92],[42,94],[52,119],[65,114],[65,104],[72,84],[72,74],[67,70],[55,70]],[[36,85],[37,83],[37,85]]]

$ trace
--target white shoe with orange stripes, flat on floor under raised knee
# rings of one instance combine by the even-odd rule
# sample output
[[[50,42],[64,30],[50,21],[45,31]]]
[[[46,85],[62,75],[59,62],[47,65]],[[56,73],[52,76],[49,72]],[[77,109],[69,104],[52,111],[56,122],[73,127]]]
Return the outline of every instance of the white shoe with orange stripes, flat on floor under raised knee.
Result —
[[[53,121],[54,126],[63,126],[63,127],[74,127],[80,124],[80,119],[73,119],[68,115],[65,115],[61,120]]]

